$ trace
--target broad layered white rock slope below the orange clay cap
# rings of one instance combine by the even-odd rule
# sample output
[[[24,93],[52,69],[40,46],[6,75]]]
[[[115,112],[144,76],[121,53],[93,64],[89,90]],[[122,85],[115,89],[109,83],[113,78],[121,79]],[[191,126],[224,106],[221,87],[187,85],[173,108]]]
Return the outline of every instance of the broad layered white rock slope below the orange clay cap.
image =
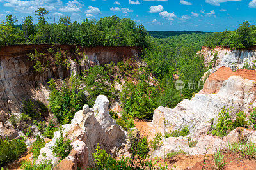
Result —
[[[215,121],[223,107],[232,106],[232,116],[240,110],[248,113],[251,108],[255,108],[255,88],[255,80],[230,76],[223,81],[217,94],[205,94],[204,87],[201,93],[195,94],[191,100],[184,99],[173,109],[157,108],[151,124],[155,131],[162,134],[188,126],[191,134],[199,138],[209,131],[209,120],[213,118]]]

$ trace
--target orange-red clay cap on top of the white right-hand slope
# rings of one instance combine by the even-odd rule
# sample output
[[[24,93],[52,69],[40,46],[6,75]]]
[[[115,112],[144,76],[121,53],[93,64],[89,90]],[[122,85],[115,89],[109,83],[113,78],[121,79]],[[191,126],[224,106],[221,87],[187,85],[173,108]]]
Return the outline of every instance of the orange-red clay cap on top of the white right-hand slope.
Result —
[[[230,67],[221,67],[215,73],[212,73],[204,84],[204,89],[200,93],[216,94],[220,90],[220,83],[228,80],[230,76],[241,76],[249,80],[256,80],[256,71],[239,69],[236,72],[232,71]],[[211,83],[215,85],[209,86]]]

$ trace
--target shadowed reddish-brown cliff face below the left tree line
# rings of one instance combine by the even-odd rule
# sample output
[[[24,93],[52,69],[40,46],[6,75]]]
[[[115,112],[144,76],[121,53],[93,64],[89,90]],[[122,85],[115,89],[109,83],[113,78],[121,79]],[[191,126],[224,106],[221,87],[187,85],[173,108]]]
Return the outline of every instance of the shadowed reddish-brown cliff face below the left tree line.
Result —
[[[0,110],[4,112],[19,112],[22,101],[26,98],[39,99],[47,103],[49,92],[44,83],[50,78],[65,79],[70,74],[94,65],[120,62],[131,58],[140,60],[139,47],[81,47],[76,45],[55,45],[61,52],[67,53],[70,69],[51,67],[44,73],[36,73],[33,62],[28,54],[35,50],[47,53],[52,45],[13,45],[0,46]],[[80,49],[81,57],[76,59],[76,48]],[[76,60],[81,60],[79,64]],[[45,61],[47,62],[47,61]]]

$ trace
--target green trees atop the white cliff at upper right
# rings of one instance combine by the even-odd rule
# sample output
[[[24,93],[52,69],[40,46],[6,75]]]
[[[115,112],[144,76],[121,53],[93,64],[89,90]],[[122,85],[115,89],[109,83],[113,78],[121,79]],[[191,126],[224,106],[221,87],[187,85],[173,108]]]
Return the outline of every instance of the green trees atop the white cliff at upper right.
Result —
[[[255,45],[256,26],[248,21],[240,24],[235,31],[224,31],[210,34],[205,40],[205,45],[214,48],[215,46],[228,46],[234,49],[252,48]]]

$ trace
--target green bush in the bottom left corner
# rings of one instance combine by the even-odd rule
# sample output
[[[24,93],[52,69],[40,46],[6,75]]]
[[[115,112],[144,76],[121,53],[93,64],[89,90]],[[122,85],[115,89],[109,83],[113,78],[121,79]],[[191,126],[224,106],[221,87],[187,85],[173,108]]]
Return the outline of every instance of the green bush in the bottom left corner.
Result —
[[[0,139],[0,167],[18,159],[26,151],[24,139]]]

